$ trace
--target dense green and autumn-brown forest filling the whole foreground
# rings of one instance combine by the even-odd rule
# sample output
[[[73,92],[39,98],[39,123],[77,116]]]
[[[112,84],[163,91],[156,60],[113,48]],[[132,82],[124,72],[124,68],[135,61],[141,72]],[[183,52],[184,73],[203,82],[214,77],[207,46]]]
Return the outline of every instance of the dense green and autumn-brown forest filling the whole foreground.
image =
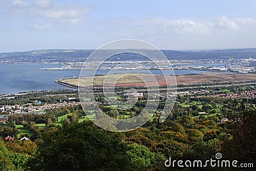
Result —
[[[143,100],[131,115],[141,107]],[[110,110],[108,104],[102,108]],[[200,115],[202,111],[209,114]],[[71,115],[57,121],[67,114]],[[227,160],[255,164],[255,100],[179,97],[164,123],[154,114],[141,128],[125,133],[102,130],[81,117],[86,117],[81,106],[56,108],[45,115],[12,115],[0,124],[0,170],[168,170],[164,161],[170,157],[205,161],[217,152]],[[218,122],[223,117],[228,121]],[[22,135],[29,140],[4,140],[19,135],[19,124],[32,133]]]

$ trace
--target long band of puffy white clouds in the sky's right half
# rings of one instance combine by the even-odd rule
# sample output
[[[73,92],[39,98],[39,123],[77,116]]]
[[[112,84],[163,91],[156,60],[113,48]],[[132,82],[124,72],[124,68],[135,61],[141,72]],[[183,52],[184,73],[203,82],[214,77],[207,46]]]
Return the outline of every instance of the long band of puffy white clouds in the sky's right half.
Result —
[[[243,31],[244,27],[254,27],[252,18],[228,19],[220,17],[212,20],[196,19],[144,19],[144,20],[111,20],[108,24],[120,28],[125,34],[163,34],[166,36],[181,34],[211,35],[222,31]],[[117,26],[118,25],[118,26]],[[116,32],[118,34],[118,32]]]

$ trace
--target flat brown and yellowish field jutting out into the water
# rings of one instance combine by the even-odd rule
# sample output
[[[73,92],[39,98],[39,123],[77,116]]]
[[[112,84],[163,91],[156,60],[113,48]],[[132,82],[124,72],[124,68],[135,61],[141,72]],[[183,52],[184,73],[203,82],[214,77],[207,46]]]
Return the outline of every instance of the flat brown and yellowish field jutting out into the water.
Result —
[[[154,80],[153,78],[156,78]],[[232,75],[225,75],[223,73],[201,73],[196,75],[178,75],[174,76],[167,76],[166,80],[161,75],[148,75],[147,73],[136,73],[136,76],[133,74],[112,74],[108,75],[100,75],[94,77],[85,77],[80,78],[79,86],[88,87],[92,84],[95,86],[101,87],[103,84],[105,86],[115,85],[116,87],[124,87],[124,86],[148,86],[156,85],[172,85],[177,82],[177,84],[196,84],[196,83],[203,83],[203,82],[237,82],[237,81],[246,81],[246,80],[256,80],[255,74],[232,74]],[[59,84],[68,84],[76,86],[78,85],[78,78],[63,78],[58,80]]]

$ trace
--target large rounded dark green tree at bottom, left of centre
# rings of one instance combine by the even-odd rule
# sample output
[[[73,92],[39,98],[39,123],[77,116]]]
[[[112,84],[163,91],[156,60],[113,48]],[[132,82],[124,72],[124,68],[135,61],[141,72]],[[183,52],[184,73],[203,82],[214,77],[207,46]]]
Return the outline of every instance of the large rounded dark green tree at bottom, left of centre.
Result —
[[[127,145],[91,122],[50,130],[29,160],[29,170],[127,170]]]

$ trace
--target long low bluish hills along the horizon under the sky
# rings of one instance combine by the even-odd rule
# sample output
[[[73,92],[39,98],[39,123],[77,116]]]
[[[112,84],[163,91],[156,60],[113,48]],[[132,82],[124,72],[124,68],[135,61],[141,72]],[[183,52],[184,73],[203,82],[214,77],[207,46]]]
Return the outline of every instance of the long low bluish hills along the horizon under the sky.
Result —
[[[161,50],[170,60],[195,59],[248,59],[256,58],[256,48],[225,49],[225,50]],[[47,49],[28,52],[0,53],[0,63],[67,63],[84,62],[93,50]],[[154,53],[154,52],[153,52]],[[147,60],[138,54],[120,54],[109,61]]]

